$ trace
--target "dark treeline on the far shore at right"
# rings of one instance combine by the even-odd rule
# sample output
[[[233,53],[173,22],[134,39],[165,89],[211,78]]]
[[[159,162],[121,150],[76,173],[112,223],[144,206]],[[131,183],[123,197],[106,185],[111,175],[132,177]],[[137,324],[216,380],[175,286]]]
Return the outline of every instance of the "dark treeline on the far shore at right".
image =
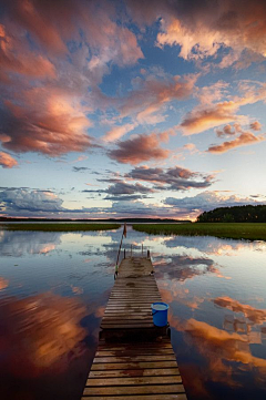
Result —
[[[219,207],[204,212],[198,223],[266,223],[266,205]]]

